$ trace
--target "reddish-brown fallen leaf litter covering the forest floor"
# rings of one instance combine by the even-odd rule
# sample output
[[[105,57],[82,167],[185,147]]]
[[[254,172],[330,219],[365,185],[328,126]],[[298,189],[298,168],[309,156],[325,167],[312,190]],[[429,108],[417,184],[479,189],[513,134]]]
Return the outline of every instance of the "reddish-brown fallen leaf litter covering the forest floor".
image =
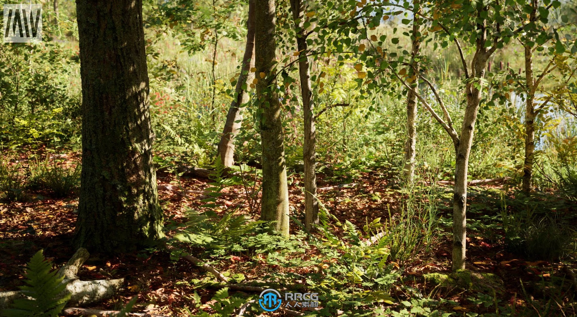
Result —
[[[302,184],[302,179],[299,174],[293,174],[290,178],[291,207],[297,211],[295,216],[302,219],[304,216],[302,214],[303,197],[300,187],[297,186]],[[211,186],[209,182],[208,179],[201,178],[180,178],[178,184],[174,174],[159,174],[159,198],[165,217],[180,222],[186,220],[188,208],[202,211],[201,205],[205,203],[200,199],[204,197],[200,192]],[[362,173],[362,177],[351,186],[337,185],[342,184],[331,181],[328,177],[325,180],[320,175],[319,188],[325,188],[320,190],[320,201],[324,202],[328,211],[339,221],[349,220],[359,227],[363,227],[366,221],[370,222],[377,217],[388,219],[390,215],[395,214],[400,202],[406,198],[399,190],[398,184],[394,184],[385,175],[379,173]],[[410,260],[395,263],[398,264],[398,269],[402,270],[401,281],[424,293],[428,293],[431,289],[426,287],[419,277],[433,272],[447,274],[451,269],[449,240],[451,236],[450,227],[446,222],[450,220],[452,210],[451,189],[450,185],[441,185],[438,188],[443,193],[440,195],[441,208],[439,209],[440,226],[443,228],[442,234],[434,240],[436,243],[434,251],[427,254],[415,254]],[[182,190],[193,192],[184,194]],[[228,186],[223,192],[226,192],[226,196],[219,197],[216,202],[218,213],[233,211],[254,217],[248,207],[248,198],[238,194],[245,192],[243,186]],[[564,273],[558,262],[536,259],[530,261],[507,250],[503,243],[502,229],[492,221],[503,208],[501,192],[503,192],[502,185],[482,185],[470,188],[467,269],[499,276],[505,286],[505,292],[497,295],[501,301],[519,306],[530,305],[524,299],[526,296],[523,294],[531,293],[530,296],[535,299],[539,296],[537,287],[531,285],[550,281],[554,276],[563,277]],[[44,254],[55,266],[68,261],[74,253],[70,241],[76,223],[77,198],[52,198],[49,193],[41,190],[29,194],[30,198],[25,203],[0,201],[0,258],[2,259],[0,261],[0,291],[15,290],[23,284],[23,268],[39,249],[44,249]],[[575,215],[577,207],[574,203],[568,203],[554,196],[553,193],[540,195],[539,199],[550,201],[549,207],[557,206],[553,207],[556,212]],[[291,226],[293,226],[293,231],[297,230],[294,223],[291,223]],[[338,228],[335,227],[335,230]],[[310,252],[314,253],[314,250]],[[211,264],[220,272],[242,273],[247,281],[261,276],[263,270],[284,269],[267,264],[264,257],[260,265],[255,265],[254,262],[242,256],[231,256],[228,261]],[[302,269],[306,273],[306,270],[311,268]],[[194,291],[198,292],[203,303],[211,299],[214,289],[198,289],[190,283],[194,278],[202,278],[204,275],[202,270],[191,263],[183,259],[175,262],[166,251],[153,248],[121,256],[93,254],[79,272],[83,280],[126,278],[127,287],[118,296],[106,303],[92,305],[92,308],[118,308],[119,304],[126,303],[129,297],[140,294],[138,304],[133,311],[167,315],[180,311],[183,307],[194,310],[190,299]],[[393,306],[402,308],[400,302],[407,299],[403,290],[397,288],[395,291],[394,289],[391,296],[398,299]],[[467,293],[463,292],[437,291],[433,296],[442,296],[449,300],[447,303],[449,311],[451,305],[452,308],[460,307],[462,312],[483,312],[495,309],[494,307],[484,308],[482,303],[467,299]],[[200,308],[206,307],[203,305]],[[571,315],[569,311],[567,313]]]

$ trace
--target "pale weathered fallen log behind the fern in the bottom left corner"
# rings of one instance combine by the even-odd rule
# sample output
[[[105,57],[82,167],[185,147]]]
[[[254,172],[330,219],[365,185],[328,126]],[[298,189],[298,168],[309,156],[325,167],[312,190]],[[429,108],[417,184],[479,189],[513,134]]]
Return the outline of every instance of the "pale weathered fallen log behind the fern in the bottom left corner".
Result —
[[[86,249],[80,248],[59,270],[59,273],[64,276],[62,282],[66,284],[65,292],[70,293],[68,305],[85,305],[103,301],[114,296],[114,293],[124,284],[124,278],[81,281],[76,274],[89,255]],[[10,308],[15,299],[22,297],[24,297],[22,292],[0,292],[0,309]]]

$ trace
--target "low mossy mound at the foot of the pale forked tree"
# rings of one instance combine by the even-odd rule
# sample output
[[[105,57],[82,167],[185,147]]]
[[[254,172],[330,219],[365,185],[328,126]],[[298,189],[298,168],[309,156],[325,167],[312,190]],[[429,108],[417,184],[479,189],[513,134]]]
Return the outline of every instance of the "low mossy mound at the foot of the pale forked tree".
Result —
[[[423,276],[425,281],[440,287],[460,287],[475,292],[504,292],[501,278],[491,273],[458,270],[451,274],[429,273]]]

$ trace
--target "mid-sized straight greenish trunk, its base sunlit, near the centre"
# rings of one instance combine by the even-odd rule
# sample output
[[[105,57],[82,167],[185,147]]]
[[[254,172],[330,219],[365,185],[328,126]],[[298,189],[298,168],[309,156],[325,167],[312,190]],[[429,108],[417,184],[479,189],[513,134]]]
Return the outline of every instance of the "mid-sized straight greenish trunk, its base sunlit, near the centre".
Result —
[[[263,197],[261,219],[276,221],[271,229],[288,235],[288,188],[284,161],[284,135],[276,93],[275,0],[255,6],[254,43],[258,83],[257,104],[263,147]]]

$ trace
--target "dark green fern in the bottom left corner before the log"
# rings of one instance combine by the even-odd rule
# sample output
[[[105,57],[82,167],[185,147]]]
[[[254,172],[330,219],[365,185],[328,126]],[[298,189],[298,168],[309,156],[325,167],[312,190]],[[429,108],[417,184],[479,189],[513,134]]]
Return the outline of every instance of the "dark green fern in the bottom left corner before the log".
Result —
[[[27,264],[25,282],[20,287],[25,297],[14,300],[13,308],[2,312],[6,317],[57,317],[70,299],[63,293],[66,284],[64,276],[51,270],[50,262],[38,251]],[[63,295],[64,294],[64,295]]]

